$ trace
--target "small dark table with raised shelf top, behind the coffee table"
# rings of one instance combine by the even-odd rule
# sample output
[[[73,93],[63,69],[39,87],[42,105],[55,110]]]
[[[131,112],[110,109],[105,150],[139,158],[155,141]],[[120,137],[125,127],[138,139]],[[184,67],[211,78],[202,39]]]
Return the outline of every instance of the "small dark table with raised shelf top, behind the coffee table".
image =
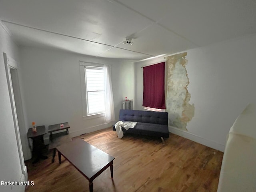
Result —
[[[60,127],[60,125],[63,124],[63,127]],[[60,146],[61,144],[71,141],[71,137],[69,136],[68,129],[70,126],[68,125],[68,122],[66,123],[60,123],[55,125],[50,125],[48,127],[48,133],[50,133],[50,142],[49,142],[49,150],[53,149],[52,153],[52,163],[54,162],[54,158],[56,155],[56,148]],[[52,134],[52,132],[65,130],[65,132],[59,132],[56,134]]]

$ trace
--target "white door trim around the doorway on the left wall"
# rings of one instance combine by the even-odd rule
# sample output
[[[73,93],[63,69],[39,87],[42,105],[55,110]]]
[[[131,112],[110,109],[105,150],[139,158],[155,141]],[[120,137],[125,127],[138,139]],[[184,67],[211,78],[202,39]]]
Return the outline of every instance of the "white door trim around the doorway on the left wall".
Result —
[[[17,146],[18,146],[18,154],[19,154],[19,159],[20,159],[21,172],[24,175],[24,178],[27,179],[28,172],[27,172],[27,168],[24,163],[24,156],[23,156],[23,151],[22,151],[20,130],[19,130],[19,125],[18,125],[18,118],[17,118],[16,106],[15,106],[15,100],[14,100],[14,92],[12,89],[12,78],[11,78],[11,72],[10,72],[10,68],[18,70],[18,63],[14,59],[8,57],[6,53],[4,53],[4,65],[5,65],[5,70],[6,70],[6,78],[7,78],[10,102],[11,102],[11,106],[12,106],[12,115],[13,115],[13,121],[14,121],[16,141],[17,141]]]

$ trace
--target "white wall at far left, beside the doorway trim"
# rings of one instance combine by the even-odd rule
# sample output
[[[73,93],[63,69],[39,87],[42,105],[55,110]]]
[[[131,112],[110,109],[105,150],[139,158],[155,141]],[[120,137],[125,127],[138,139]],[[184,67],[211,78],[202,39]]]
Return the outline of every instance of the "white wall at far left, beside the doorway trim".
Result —
[[[0,181],[23,182],[25,178],[18,154],[3,52],[19,61],[18,46],[0,23]],[[24,191],[24,187],[0,186],[0,191]]]

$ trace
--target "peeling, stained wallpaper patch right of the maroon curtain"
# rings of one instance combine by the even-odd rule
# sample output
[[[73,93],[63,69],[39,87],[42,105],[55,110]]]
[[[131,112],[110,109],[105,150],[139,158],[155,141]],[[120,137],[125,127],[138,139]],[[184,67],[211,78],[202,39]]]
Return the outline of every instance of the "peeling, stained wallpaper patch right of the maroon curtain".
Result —
[[[186,130],[186,125],[194,117],[194,104],[190,104],[188,92],[188,74],[186,70],[187,52],[168,56],[166,112],[169,114],[168,124]]]

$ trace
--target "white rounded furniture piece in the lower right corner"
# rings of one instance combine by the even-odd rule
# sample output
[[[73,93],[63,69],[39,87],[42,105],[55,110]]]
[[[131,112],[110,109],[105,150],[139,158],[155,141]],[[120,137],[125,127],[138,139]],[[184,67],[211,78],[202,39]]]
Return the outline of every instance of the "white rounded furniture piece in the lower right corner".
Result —
[[[230,128],[217,192],[256,192],[256,104]]]

